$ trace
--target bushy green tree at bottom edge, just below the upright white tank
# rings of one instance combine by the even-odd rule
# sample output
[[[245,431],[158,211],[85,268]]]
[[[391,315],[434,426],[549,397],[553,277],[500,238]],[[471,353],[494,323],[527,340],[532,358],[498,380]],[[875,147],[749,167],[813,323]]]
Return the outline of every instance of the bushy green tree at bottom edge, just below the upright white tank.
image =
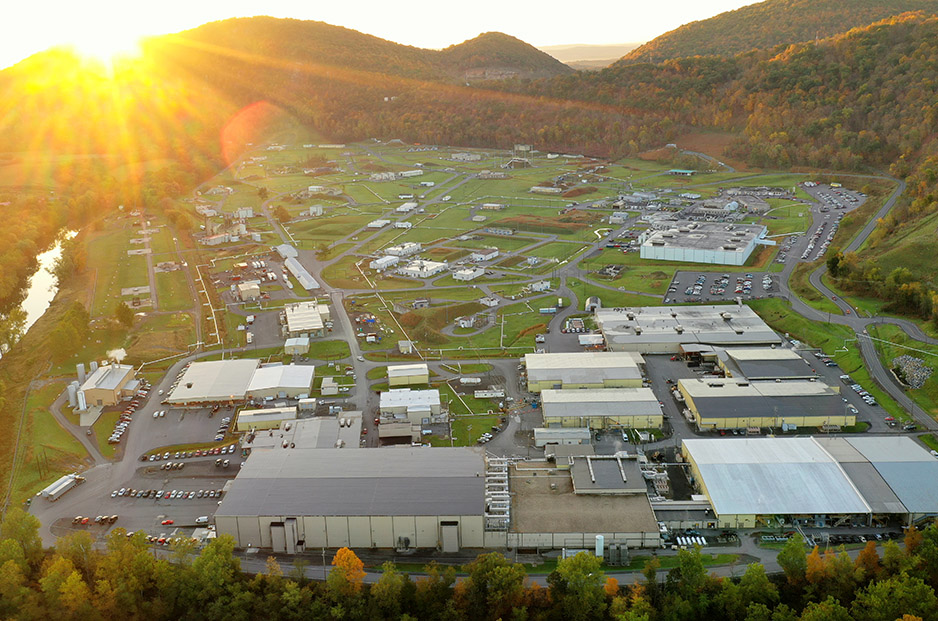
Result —
[[[551,601],[562,618],[586,620],[603,616],[606,575],[600,569],[602,562],[602,558],[589,552],[578,552],[561,559],[557,569],[547,576]]]

